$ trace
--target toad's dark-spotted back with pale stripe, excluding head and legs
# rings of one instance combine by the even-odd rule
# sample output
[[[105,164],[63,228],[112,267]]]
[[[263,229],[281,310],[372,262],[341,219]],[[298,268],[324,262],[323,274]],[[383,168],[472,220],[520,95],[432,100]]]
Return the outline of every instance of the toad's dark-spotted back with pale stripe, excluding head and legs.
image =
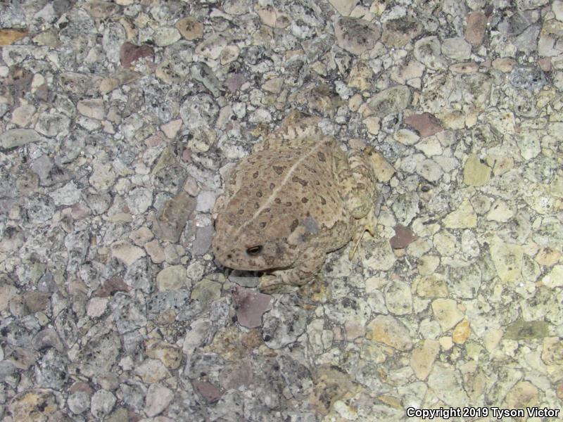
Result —
[[[346,207],[334,179],[334,140],[310,141],[299,148],[263,150],[243,160],[234,174],[229,208],[238,207],[241,226],[258,223],[271,229],[281,216],[301,222],[311,217],[330,228],[346,218]],[[240,186],[240,188],[239,188]]]

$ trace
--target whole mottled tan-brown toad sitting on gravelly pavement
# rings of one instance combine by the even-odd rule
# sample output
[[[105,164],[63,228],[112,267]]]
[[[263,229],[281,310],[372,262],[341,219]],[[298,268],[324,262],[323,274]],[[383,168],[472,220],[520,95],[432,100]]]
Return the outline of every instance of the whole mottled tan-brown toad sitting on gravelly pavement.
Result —
[[[225,267],[268,271],[262,288],[301,286],[350,241],[375,194],[371,162],[291,113],[239,162],[215,204],[213,252]]]

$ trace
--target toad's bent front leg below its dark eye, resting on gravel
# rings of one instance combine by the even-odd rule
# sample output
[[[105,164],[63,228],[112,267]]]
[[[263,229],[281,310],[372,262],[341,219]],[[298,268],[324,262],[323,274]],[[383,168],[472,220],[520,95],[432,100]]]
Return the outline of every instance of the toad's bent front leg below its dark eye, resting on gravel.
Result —
[[[322,268],[327,254],[317,248],[308,248],[289,269],[278,269],[260,277],[258,288],[265,293],[280,293],[284,286],[303,286]]]

